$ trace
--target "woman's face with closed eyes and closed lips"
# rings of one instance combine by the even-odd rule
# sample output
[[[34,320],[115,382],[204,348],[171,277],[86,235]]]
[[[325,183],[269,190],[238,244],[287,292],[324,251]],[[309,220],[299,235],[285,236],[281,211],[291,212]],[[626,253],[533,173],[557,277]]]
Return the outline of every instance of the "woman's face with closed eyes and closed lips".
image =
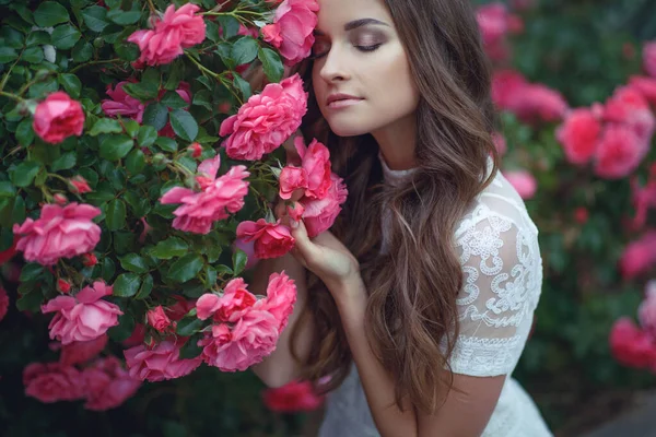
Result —
[[[313,84],[340,137],[375,133],[413,119],[419,92],[383,0],[318,0]]]

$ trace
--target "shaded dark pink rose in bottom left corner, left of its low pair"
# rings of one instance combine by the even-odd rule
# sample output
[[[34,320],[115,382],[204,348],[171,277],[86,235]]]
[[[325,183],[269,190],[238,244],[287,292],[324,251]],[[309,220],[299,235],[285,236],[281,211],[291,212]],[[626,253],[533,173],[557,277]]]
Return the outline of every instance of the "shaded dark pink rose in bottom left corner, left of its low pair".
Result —
[[[32,363],[23,370],[25,394],[42,402],[74,401],[84,395],[80,370],[59,363]]]

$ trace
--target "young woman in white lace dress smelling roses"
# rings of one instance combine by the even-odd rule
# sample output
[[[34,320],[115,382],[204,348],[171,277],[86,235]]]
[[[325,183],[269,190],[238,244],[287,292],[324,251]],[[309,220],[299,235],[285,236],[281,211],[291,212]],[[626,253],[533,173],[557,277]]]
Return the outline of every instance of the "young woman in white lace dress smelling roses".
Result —
[[[542,265],[496,172],[469,3],[319,0],[304,133],[349,199],[331,232],[294,222],[293,256],[259,265],[256,281],[293,275],[298,300],[255,371],[269,386],[329,376],[321,437],[551,435],[511,378]]]

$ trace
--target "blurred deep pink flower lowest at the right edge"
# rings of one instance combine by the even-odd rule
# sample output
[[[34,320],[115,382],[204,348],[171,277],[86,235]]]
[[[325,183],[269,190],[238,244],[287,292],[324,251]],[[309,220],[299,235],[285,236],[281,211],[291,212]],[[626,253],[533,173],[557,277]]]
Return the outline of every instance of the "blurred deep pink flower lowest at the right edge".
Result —
[[[656,365],[652,338],[626,317],[617,320],[610,330],[610,352],[625,366],[647,368]]]

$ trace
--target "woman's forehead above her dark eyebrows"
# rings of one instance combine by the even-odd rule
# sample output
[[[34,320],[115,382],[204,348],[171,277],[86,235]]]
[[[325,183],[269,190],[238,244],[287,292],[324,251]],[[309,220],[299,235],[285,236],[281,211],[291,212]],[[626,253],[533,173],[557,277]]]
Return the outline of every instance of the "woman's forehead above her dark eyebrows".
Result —
[[[362,19],[375,19],[393,25],[383,0],[318,0],[318,25],[323,32],[343,32],[344,24]]]

